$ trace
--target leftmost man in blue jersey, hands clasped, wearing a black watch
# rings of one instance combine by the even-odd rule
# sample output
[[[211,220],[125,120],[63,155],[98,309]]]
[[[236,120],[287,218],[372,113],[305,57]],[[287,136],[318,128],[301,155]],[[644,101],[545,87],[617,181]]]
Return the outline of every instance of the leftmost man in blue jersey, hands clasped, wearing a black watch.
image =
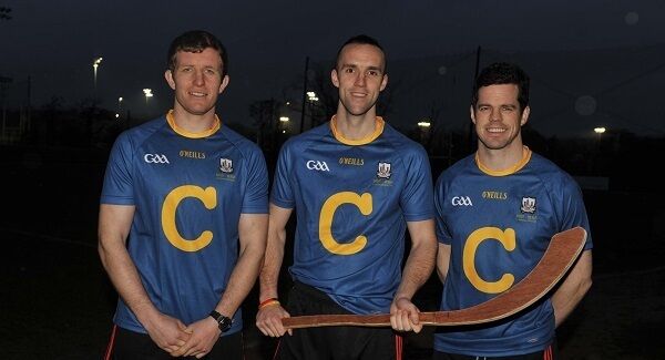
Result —
[[[239,306],[268,220],[260,150],[222,124],[228,55],[205,31],[177,37],[166,115],[116,140],[101,195],[99,251],[120,295],[114,359],[243,359]]]

